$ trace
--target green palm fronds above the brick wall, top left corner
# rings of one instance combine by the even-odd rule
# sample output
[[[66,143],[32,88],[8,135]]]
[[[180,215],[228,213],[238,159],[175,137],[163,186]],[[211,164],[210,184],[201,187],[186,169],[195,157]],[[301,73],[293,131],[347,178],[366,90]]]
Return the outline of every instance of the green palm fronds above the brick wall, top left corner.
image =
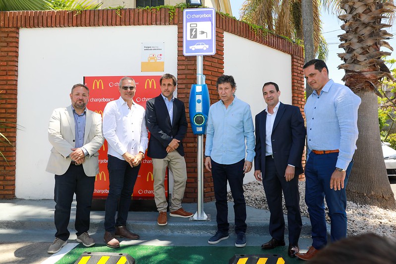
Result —
[[[0,11],[98,9],[92,0],[0,0]]]

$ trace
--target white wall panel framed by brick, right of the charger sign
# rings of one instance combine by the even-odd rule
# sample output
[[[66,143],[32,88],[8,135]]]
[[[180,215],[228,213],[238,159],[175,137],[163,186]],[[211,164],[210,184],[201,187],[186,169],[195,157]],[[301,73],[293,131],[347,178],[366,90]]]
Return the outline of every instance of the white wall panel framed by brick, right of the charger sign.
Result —
[[[236,82],[235,95],[250,105],[252,118],[267,106],[262,88],[275,82],[281,91],[280,101],[291,104],[291,56],[244,38],[224,33],[224,73]],[[255,180],[254,165],[244,183]]]

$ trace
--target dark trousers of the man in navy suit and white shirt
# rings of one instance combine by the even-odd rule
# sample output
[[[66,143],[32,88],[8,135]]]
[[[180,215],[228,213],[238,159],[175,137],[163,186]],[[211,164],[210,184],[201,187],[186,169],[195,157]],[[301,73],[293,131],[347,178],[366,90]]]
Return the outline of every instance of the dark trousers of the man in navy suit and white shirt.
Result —
[[[289,229],[289,244],[297,245],[300,237],[302,221],[300,213],[300,194],[298,192],[298,175],[291,181],[286,181],[284,171],[279,173],[275,167],[274,158],[266,157],[263,185],[270,209],[270,235],[284,239],[284,218],[282,209],[282,191],[287,209],[287,225]]]

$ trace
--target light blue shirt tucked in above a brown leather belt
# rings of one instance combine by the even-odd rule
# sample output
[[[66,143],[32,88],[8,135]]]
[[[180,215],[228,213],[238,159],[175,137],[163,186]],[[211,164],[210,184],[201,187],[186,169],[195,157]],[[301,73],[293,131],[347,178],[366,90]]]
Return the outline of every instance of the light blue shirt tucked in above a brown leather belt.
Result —
[[[346,169],[356,150],[360,102],[348,87],[333,80],[320,95],[313,91],[304,106],[308,154],[311,150],[339,150],[336,167]]]

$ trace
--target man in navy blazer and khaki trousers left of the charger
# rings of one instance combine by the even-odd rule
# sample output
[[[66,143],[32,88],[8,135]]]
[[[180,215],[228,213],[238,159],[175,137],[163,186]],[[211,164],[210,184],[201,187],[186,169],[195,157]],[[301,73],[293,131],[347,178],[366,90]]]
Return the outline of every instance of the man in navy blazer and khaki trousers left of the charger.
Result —
[[[187,181],[182,140],[187,132],[184,103],[173,97],[176,78],[164,74],[160,79],[161,95],[146,103],[146,125],[151,133],[147,156],[153,160],[154,199],[159,211],[157,223],[168,224],[168,203],[165,196],[165,172],[173,173],[170,216],[190,217],[193,213],[181,208]]]

